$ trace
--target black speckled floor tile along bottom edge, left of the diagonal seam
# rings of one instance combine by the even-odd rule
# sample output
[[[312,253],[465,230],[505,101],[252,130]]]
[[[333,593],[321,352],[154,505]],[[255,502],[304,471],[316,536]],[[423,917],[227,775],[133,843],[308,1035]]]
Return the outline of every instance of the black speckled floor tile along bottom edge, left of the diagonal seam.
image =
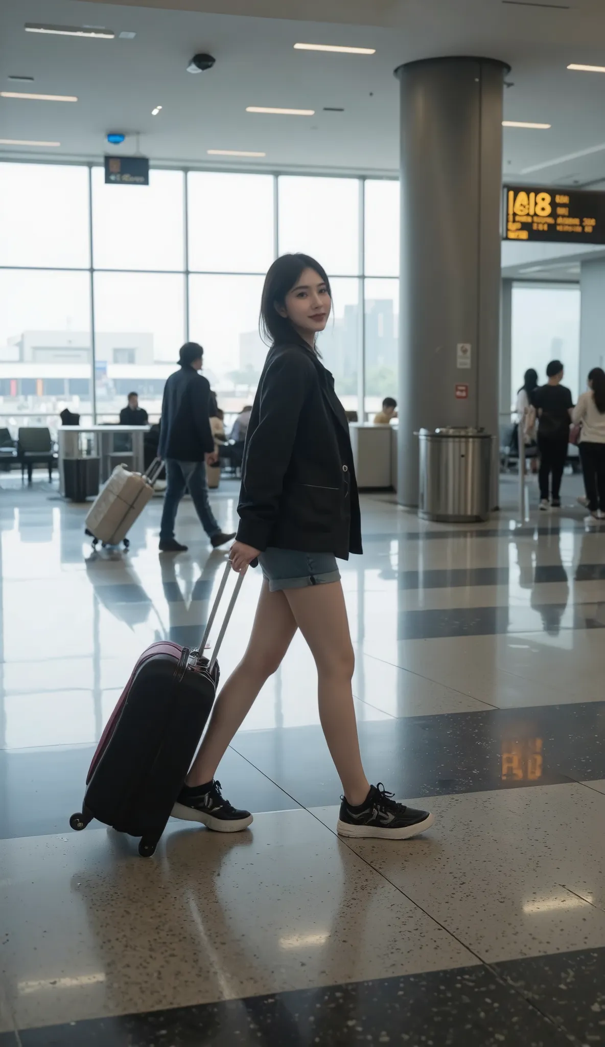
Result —
[[[483,966],[274,993],[22,1033],[23,1047],[155,1047],[169,1039],[171,1047],[568,1044],[520,994]]]

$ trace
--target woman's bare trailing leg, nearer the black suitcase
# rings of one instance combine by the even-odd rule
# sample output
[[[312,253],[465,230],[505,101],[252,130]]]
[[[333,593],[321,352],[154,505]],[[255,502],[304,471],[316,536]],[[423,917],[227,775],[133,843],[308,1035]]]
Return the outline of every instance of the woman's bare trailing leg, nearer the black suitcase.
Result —
[[[219,693],[208,728],[192,764],[186,784],[205,785],[236,731],[251,709],[265,681],[274,673],[296,631],[296,622],[283,593],[270,593],[263,582],[246,653]]]

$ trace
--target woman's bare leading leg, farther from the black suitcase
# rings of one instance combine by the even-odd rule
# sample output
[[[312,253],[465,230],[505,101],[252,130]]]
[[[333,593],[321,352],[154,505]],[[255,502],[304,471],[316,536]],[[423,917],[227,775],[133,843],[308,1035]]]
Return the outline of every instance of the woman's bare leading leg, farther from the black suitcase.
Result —
[[[349,803],[363,803],[369,782],[359,753],[351,680],[355,655],[340,582],[286,589],[294,621],[318,675],[319,720]]]

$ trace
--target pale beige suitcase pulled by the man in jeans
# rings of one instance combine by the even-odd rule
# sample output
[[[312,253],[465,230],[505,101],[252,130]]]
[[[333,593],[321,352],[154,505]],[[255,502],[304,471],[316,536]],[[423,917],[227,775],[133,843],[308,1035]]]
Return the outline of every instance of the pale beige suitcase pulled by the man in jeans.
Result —
[[[93,547],[97,541],[104,545],[118,545],[124,541],[128,549],[126,536],[153,497],[153,485],[161,468],[161,459],[154,459],[144,474],[116,465],[86,517],[86,533],[92,536]]]

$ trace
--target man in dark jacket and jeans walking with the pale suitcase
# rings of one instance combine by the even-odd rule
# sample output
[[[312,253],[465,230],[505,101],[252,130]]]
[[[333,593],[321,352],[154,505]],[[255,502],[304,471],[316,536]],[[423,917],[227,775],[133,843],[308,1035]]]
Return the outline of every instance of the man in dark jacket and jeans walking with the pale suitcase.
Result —
[[[210,386],[198,374],[203,352],[196,341],[185,342],[179,352],[180,371],[171,375],[164,386],[158,449],[160,458],[165,460],[167,474],[160,526],[162,553],[182,553],[187,549],[175,539],[177,509],[185,489],[212,549],[234,538],[234,534],[221,531],[208,502],[205,463],[216,462],[217,455],[210,429]]]

